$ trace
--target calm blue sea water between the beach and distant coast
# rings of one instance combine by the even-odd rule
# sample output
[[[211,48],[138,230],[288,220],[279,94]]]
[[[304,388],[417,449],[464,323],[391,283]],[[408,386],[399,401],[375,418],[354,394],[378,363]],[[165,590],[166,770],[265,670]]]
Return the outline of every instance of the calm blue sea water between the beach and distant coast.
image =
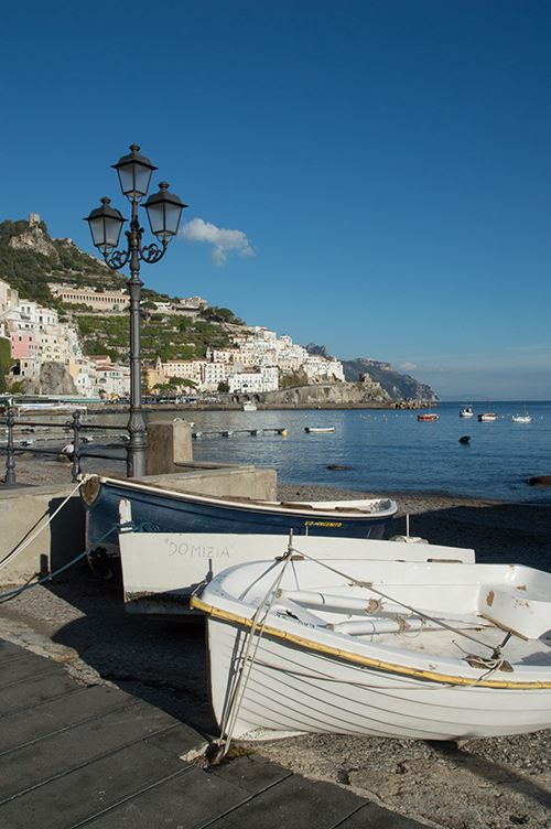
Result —
[[[514,415],[523,415],[525,405],[531,422],[512,422]],[[461,408],[457,402],[433,406],[439,416],[434,422],[419,422],[417,410],[248,412],[201,407],[151,412],[147,419],[177,416],[193,421],[192,431],[202,432],[193,441],[195,461],[273,469],[280,484],[551,505],[551,487],[527,484],[530,477],[551,475],[551,401],[493,401],[498,419],[489,423],[476,417],[487,411],[487,403],[474,405],[471,419],[460,418]],[[128,419],[114,417],[121,423]],[[316,426],[335,430],[305,431]],[[252,430],[257,434],[250,434]],[[460,442],[463,437],[471,440]],[[346,469],[328,469],[332,465]],[[83,469],[89,469],[86,462]]]

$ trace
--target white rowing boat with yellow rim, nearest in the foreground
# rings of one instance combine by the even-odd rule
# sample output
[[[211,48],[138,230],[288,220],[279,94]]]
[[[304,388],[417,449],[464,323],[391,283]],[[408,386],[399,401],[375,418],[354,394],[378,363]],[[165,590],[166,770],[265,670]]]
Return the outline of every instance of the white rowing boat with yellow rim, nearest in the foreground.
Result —
[[[457,740],[551,726],[551,574],[314,562],[302,539],[294,547],[226,570],[192,600],[207,615],[223,733]]]

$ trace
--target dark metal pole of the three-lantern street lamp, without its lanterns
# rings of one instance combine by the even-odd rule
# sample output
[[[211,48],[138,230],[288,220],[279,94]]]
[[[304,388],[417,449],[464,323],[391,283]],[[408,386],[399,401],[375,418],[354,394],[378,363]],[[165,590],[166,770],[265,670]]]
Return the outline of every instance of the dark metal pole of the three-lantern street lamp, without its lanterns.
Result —
[[[143,282],[140,280],[140,223],[138,202],[132,200],[132,220],[127,233],[130,248],[130,418],[128,420],[129,442],[127,445],[128,477],[143,477],[148,474],[148,433],[141,408],[141,342],[140,342],[140,297]]]

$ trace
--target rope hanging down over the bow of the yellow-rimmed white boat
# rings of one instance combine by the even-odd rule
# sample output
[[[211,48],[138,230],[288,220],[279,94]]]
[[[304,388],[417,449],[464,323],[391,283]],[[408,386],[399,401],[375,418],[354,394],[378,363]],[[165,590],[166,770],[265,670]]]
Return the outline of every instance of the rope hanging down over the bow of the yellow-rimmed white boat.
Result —
[[[268,588],[268,591],[264,597],[258,605],[257,612],[255,613],[255,616],[252,617],[252,623],[251,623],[251,627],[250,627],[248,640],[247,640],[247,647],[245,650],[245,655],[242,657],[241,668],[239,670],[239,677],[237,679],[234,696],[233,696],[230,704],[228,706],[226,710],[226,713],[224,714],[223,721],[220,723],[220,739],[217,742],[218,750],[212,753],[213,754],[213,757],[210,761],[212,765],[216,765],[217,763],[219,763],[226,756],[228,749],[230,746],[231,736],[234,734],[234,730],[237,723],[239,710],[245,699],[245,692],[247,690],[249,678],[250,678],[250,675],[255,665],[255,660],[257,658],[258,648],[260,646],[260,640],[264,632],[269,609],[267,609],[264,616],[262,618],[262,622],[259,624],[260,615],[269,597],[279,589],[279,585],[281,584],[281,580],[283,578],[283,573],[285,572],[287,566],[291,561],[291,557],[294,552],[293,546],[292,546],[292,537],[293,537],[293,530],[290,530],[288,549],[281,557],[283,567],[278,573],[278,577],[276,578],[276,580]],[[273,567],[273,566],[271,564],[270,567]],[[252,647],[252,639],[253,639],[253,636],[257,634],[258,627],[260,627],[260,631],[258,632],[258,635],[257,635],[255,650],[252,653],[252,656],[249,656],[251,647]]]

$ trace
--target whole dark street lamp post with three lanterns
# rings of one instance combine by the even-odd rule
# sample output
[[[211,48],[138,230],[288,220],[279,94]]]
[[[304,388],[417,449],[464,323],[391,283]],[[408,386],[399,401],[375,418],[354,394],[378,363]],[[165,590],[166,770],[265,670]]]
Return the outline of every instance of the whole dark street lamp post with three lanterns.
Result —
[[[159,193],[151,195],[143,205],[148,212],[151,233],[161,246],[152,243],[142,247],[143,228],[138,218],[138,205],[148,195],[151,173],[156,170],[151,161],[139,154],[138,144],[130,147],[112,166],[119,174],[120,189],[132,205],[130,229],[126,232],[127,249],[117,250],[122,225],[127,222],[119,211],[110,207],[110,200],[102,198],[101,207],[91,211],[85,218],[91,232],[94,245],[101,251],[111,270],[120,270],[130,262],[130,418],[127,446],[128,477],[147,474],[148,437],[141,408],[141,347],[140,347],[140,297],[143,282],[140,280],[140,261],[153,265],[163,258],[169,241],[176,235],[182,209],[187,207],[173,193],[166,182],[161,182]]]

